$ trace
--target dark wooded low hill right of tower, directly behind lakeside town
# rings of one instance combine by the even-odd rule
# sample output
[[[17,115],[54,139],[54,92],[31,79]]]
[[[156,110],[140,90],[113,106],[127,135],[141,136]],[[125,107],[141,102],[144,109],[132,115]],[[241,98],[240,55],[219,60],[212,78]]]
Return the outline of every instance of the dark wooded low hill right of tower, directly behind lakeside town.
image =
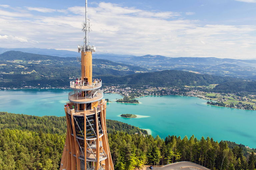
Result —
[[[102,76],[101,79],[104,83],[150,85],[159,87],[179,85],[208,86],[209,84],[220,84],[226,81],[236,80],[232,77],[195,74],[191,72],[178,70],[164,70],[158,72],[138,73],[122,77]]]

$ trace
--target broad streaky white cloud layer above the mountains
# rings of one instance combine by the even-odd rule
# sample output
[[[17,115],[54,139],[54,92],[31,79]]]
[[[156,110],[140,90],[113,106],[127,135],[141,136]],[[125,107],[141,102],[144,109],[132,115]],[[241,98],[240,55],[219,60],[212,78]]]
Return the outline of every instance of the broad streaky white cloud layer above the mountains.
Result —
[[[1,47],[40,47],[73,49],[82,43],[84,7],[62,9],[51,16],[2,10]],[[68,13],[65,14],[64,12]],[[19,14],[19,15],[18,15]],[[146,11],[101,2],[88,8],[92,24],[90,41],[97,52],[120,54],[161,54],[166,56],[213,56],[221,58],[255,58],[255,25],[202,24],[182,19],[182,13]],[[204,21],[205,22],[205,21]],[[9,35],[12,35],[9,36]]]

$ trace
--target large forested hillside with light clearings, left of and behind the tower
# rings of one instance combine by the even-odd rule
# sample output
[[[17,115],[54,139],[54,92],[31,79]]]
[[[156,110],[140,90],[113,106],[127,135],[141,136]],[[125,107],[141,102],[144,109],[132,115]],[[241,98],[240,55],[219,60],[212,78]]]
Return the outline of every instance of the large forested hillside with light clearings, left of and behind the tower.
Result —
[[[0,54],[0,87],[64,87],[69,85],[70,77],[80,76],[80,70],[80,62],[73,57],[7,51]],[[123,76],[146,71],[137,66],[93,59],[93,76]]]

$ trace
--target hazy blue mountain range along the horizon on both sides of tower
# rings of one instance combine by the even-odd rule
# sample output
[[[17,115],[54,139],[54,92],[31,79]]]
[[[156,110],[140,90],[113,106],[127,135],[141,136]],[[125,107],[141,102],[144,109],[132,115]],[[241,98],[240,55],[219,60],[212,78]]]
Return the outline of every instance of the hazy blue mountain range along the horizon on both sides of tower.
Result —
[[[0,48],[0,53],[9,48]],[[60,57],[80,57],[80,54],[68,50],[55,50],[55,49],[41,49],[41,48],[16,48],[16,50],[33,51],[41,55],[51,55]],[[78,58],[79,58],[78,57]],[[127,75],[133,74],[137,71],[162,71],[162,70],[181,70],[198,74],[210,74],[215,76],[231,76],[242,78],[246,80],[256,80],[256,60],[238,60],[229,58],[215,58],[215,57],[166,57],[162,55],[119,55],[119,54],[93,54],[94,59],[104,59],[115,63],[120,63],[131,66],[136,66],[135,70],[122,70],[118,68],[108,67],[101,73]],[[74,59],[74,58],[73,58]],[[63,60],[61,58],[60,60]],[[122,64],[121,64],[122,63]],[[103,67],[103,65],[102,65]],[[140,68],[140,69],[138,69]],[[143,68],[143,69],[142,69]],[[112,69],[110,71],[109,69]],[[96,70],[95,70],[96,71]],[[122,71],[125,71],[121,73]],[[127,72],[130,71],[130,72]],[[112,73],[111,73],[112,72]],[[100,72],[97,72],[97,75]]]

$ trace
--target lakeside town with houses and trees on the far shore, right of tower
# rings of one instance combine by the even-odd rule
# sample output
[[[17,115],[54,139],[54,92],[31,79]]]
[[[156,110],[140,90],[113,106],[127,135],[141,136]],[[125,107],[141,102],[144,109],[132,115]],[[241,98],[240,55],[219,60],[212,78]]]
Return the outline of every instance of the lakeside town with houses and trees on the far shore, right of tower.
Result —
[[[104,93],[116,93],[123,96],[123,99],[117,100],[122,103],[139,103],[135,98],[143,96],[165,96],[180,95],[198,97],[209,105],[230,107],[235,109],[256,110],[256,95],[241,95],[232,93],[213,93],[204,92],[188,87],[128,87],[125,85],[104,86]]]

